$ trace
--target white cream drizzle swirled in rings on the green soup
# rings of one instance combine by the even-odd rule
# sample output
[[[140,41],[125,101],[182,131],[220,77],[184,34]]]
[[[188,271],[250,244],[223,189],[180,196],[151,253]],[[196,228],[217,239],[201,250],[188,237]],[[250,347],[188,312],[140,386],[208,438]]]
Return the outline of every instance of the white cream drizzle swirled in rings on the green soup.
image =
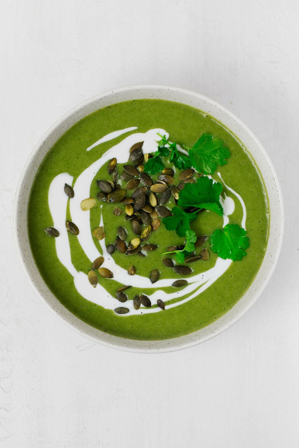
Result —
[[[116,131],[116,133],[125,133],[129,130],[133,130],[136,128],[127,128],[122,131]],[[165,293],[159,288],[168,287],[173,283],[173,279],[162,279],[158,280],[154,285],[151,281],[143,276],[134,275],[129,276],[126,269],[118,266],[112,256],[108,254],[105,246],[105,240],[99,241],[99,246],[95,245],[94,239],[91,235],[90,228],[90,212],[82,211],[80,204],[81,201],[90,196],[90,186],[91,182],[94,180],[96,173],[99,171],[101,166],[105,164],[112,157],[116,157],[119,163],[126,163],[128,159],[128,148],[132,146],[136,142],[143,141],[143,151],[146,152],[154,152],[156,151],[157,141],[159,141],[159,137],[157,133],[166,135],[168,138],[168,133],[163,129],[150,129],[146,133],[134,133],[126,138],[124,138],[120,143],[111,147],[108,151],[102,155],[102,157],[96,160],[93,164],[91,164],[88,168],[86,168],[77,178],[74,184],[74,198],[69,202],[70,206],[70,214],[72,216],[72,221],[77,224],[80,232],[78,234],[78,241],[82,247],[82,250],[87,255],[87,258],[91,261],[91,263],[95,260],[95,258],[100,256],[99,249],[101,248],[104,263],[103,267],[107,267],[113,272],[114,279],[120,282],[121,284],[130,284],[133,287],[142,286],[147,289],[155,289],[152,294],[147,294],[150,298],[152,304],[154,305],[157,299],[163,300],[163,302],[167,302],[169,300],[180,297],[180,295],[191,294],[189,297],[185,299],[165,305],[166,309],[172,308],[173,306],[181,305],[193,297],[197,296],[205,289],[207,289],[212,283],[214,283],[230,266],[231,260],[223,260],[222,258],[217,258],[215,266],[205,271],[203,273],[197,274],[193,277],[189,277],[188,281],[192,283],[188,283],[183,291],[178,292],[176,289],[173,289],[173,293]],[[101,142],[108,141],[113,137],[114,133],[108,134],[103,137]],[[121,134],[118,134],[121,135]],[[108,138],[110,136],[111,138]],[[100,141],[96,142],[97,144]],[[92,145],[91,147],[95,146]],[[87,148],[88,150],[89,148]],[[180,148],[179,148],[180,149]],[[186,151],[183,151],[185,152]],[[220,173],[218,173],[219,177]],[[221,178],[222,180],[222,178]],[[121,302],[119,302],[116,298],[114,298],[104,287],[100,284],[97,284],[95,288],[91,287],[91,284],[88,281],[87,274],[83,272],[77,272],[71,262],[71,254],[69,247],[69,237],[67,234],[67,230],[65,228],[65,215],[66,215],[66,206],[68,197],[64,192],[64,185],[68,183],[72,184],[73,177],[68,173],[61,173],[56,176],[49,189],[48,201],[50,211],[53,217],[53,225],[60,232],[60,236],[55,239],[56,241],[56,253],[57,257],[61,261],[61,263],[68,269],[70,274],[74,277],[74,285],[78,291],[78,293],[89,300],[90,302],[96,303],[97,305],[103,306],[106,309],[114,310],[118,306],[122,306]],[[224,183],[224,182],[223,182]],[[224,184],[225,185],[225,184]],[[242,198],[230,187],[225,185],[228,190],[231,191],[241,202],[243,207],[243,220],[242,226],[245,228],[245,220],[246,220],[246,207],[242,200]],[[234,200],[224,194],[224,198],[220,199],[221,205],[224,209],[223,215],[223,226],[225,226],[229,222],[228,216],[231,215],[234,211]],[[245,217],[245,219],[244,219]],[[99,226],[103,225],[103,216],[101,214]],[[97,243],[96,243],[97,244]],[[113,280],[111,280],[113,281]],[[192,294],[193,293],[193,294]],[[144,314],[144,313],[155,313],[160,311],[160,308],[140,308],[139,310],[135,310],[133,307],[133,301],[128,300],[123,306],[129,308],[130,314]]]

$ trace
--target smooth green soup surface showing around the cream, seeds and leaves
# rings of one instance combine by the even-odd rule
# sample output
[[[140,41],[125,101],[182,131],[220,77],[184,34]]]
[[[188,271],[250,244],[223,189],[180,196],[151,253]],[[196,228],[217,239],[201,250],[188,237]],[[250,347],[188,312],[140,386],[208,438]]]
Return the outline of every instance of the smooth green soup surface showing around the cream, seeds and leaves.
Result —
[[[131,127],[138,129],[128,130],[112,140],[100,142],[92,147],[90,151],[87,151],[87,148],[94,145],[100,138],[117,130]],[[118,143],[122,144],[121,142],[124,142],[128,136],[133,136],[136,133],[147,133],[150,129],[165,129],[169,133],[169,140],[177,142],[181,146],[183,144],[190,147],[193,146],[203,133],[210,133],[224,141],[225,146],[230,150],[230,158],[226,165],[218,167],[212,178],[215,181],[224,182],[227,186],[223,188],[222,197],[230,198],[228,200],[231,204],[232,200],[234,202],[233,212],[229,215],[230,223],[239,224],[241,227],[244,220],[244,208],[241,201],[243,200],[246,207],[246,229],[247,236],[250,238],[250,246],[246,250],[247,255],[241,261],[231,262],[220,276],[215,277],[214,281],[209,281],[205,284],[205,287],[201,287],[199,283],[194,283],[194,289],[186,292],[185,287],[174,288],[171,286],[172,282],[184,278],[190,285],[194,281],[192,279],[195,276],[202,274],[203,278],[205,278],[204,276],[208,276],[209,272],[216,272],[213,268],[215,263],[217,263],[217,254],[211,250],[209,239],[207,239],[203,246],[196,248],[195,255],[199,255],[206,247],[209,259],[205,261],[200,259],[186,265],[192,268],[190,275],[178,275],[171,267],[165,266],[162,261],[165,256],[161,254],[167,251],[168,246],[183,245],[184,238],[178,237],[175,232],[166,230],[162,223],[162,218],[159,217],[159,228],[152,231],[150,237],[141,243],[142,245],[156,245],[156,250],[143,251],[146,255],[145,257],[138,254],[128,256],[115,250],[109,257],[114,260],[112,262],[115,262],[115,266],[118,267],[111,279],[100,276],[95,269],[99,291],[101,291],[101,294],[95,301],[97,303],[95,303],[84,298],[85,294],[82,291],[81,293],[78,292],[80,288],[75,284],[76,282],[74,283],[74,276],[58,258],[56,245],[61,235],[58,238],[49,237],[43,231],[44,228],[53,226],[53,216],[49,208],[50,185],[52,185],[52,181],[58,175],[66,173],[66,175],[73,177],[72,185],[74,186],[78,177],[91,164],[99,160],[106,151]],[[130,138],[133,139],[134,137]],[[157,137],[156,140],[158,141],[159,138]],[[129,159],[129,147],[126,148],[126,156],[123,156],[125,157],[123,163],[117,161],[119,176],[117,183],[121,188],[126,188],[127,184],[127,180],[120,179],[123,165],[131,164],[134,166],[134,163],[127,162]],[[155,149],[152,151],[155,151]],[[111,154],[109,159],[112,157],[113,154]],[[116,204],[101,202],[97,199],[97,194],[100,190],[96,180],[112,181],[113,179],[112,175],[108,173],[108,163],[109,161],[107,160],[98,172],[92,174],[92,182],[90,187],[88,187],[89,191],[86,197],[95,198],[96,203],[90,211],[82,211],[82,214],[87,213],[84,216],[89,216],[88,232],[90,232],[90,235],[92,235],[95,228],[99,227],[101,219],[104,226],[105,239],[100,242],[104,243],[104,246],[115,243],[119,226],[126,229],[126,245],[128,245],[138,235],[133,233],[131,221],[125,220],[125,204],[121,202]],[[166,159],[165,166],[173,167]],[[180,172],[182,171],[176,170],[173,176],[173,185],[180,183],[178,178]],[[221,177],[218,176],[218,172]],[[194,177],[196,178],[196,173]],[[143,186],[142,183],[140,183],[139,187],[141,186]],[[233,192],[236,192],[241,200]],[[133,193],[134,190],[128,190],[126,196],[131,196]],[[61,207],[58,207],[56,204],[57,213],[63,214],[64,221],[75,222],[74,216],[71,215],[71,201],[74,198],[67,198],[64,191],[62,191],[61,194],[57,195],[58,202],[60,200],[58,196],[59,198],[61,197],[62,201],[65,201],[66,208],[65,211],[61,211]],[[157,197],[159,196],[160,194],[157,195]],[[55,206],[54,202],[52,199],[52,203]],[[173,197],[171,196],[164,204],[164,207],[171,210],[174,205]],[[120,215],[114,214],[115,207],[121,209],[122,213]],[[209,211],[201,212],[198,218],[191,222],[191,229],[195,231],[196,235],[209,236],[213,230],[222,226],[223,217]],[[143,230],[145,225],[141,224],[141,228]],[[62,229],[58,230],[62,232]],[[83,236],[83,231],[80,228],[79,230],[81,237]],[[28,231],[31,250],[40,275],[57,299],[79,319],[116,336],[137,340],[168,339],[195,332],[214,322],[215,319],[220,318],[230,310],[246,292],[259,270],[266,249],[269,231],[268,201],[260,174],[253,160],[242,143],[224,125],[212,116],[180,103],[141,99],[113,104],[86,116],[66,131],[55,143],[43,160],[32,186],[28,211]],[[67,236],[64,236],[64,238],[65,243],[69,245],[69,263],[74,267],[74,272],[82,272],[86,275],[91,271],[91,265],[94,260],[88,258],[87,250],[83,250],[78,237],[67,233]],[[95,246],[92,248],[92,254],[95,253],[95,248],[99,251],[99,255],[102,254],[103,250],[99,241],[92,236],[89,237],[90,241],[91,238]],[[169,258],[174,260],[174,257],[171,255]],[[120,277],[117,276],[117,269],[122,269],[122,272],[124,272],[132,265],[136,269],[136,276],[142,276],[146,280],[143,282],[142,279],[139,279],[136,283],[134,280],[135,276],[131,276],[133,286],[123,291],[128,297],[128,302],[119,302],[118,306],[126,307],[127,303],[132,304],[131,301],[136,294],[145,294],[151,297],[154,293],[153,297],[155,300],[152,300],[151,312],[147,312],[148,310],[141,306],[137,314],[129,312],[128,314],[119,315],[115,313],[114,306],[101,306],[101,297],[104,297],[103,300],[105,300],[103,304],[109,303],[109,300],[116,300],[117,289],[124,284],[124,282],[120,281]],[[103,266],[105,266],[104,263]],[[159,281],[164,281],[164,283],[160,282],[162,286],[156,287],[155,284],[152,284],[149,287],[147,279],[153,270],[160,272]],[[211,275],[216,274],[213,273]],[[130,285],[131,283],[128,281],[126,284]],[[87,283],[86,297],[91,297],[89,296],[91,289],[98,291],[98,286],[93,289],[91,284]],[[159,294],[163,297],[162,300],[166,306],[165,310],[157,308],[156,299],[160,297]],[[113,299],[108,299],[106,296],[112,296]],[[166,296],[169,297],[169,300]],[[189,299],[191,296],[193,298]]]

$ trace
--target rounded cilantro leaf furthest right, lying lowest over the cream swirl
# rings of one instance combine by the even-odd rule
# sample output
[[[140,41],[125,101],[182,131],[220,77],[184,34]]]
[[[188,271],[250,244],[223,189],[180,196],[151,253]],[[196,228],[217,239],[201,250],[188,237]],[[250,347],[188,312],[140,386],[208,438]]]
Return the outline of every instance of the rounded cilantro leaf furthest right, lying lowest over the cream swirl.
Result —
[[[214,230],[210,236],[210,244],[212,251],[219,257],[236,261],[245,257],[249,238],[246,230],[238,224],[226,224],[224,228]]]

